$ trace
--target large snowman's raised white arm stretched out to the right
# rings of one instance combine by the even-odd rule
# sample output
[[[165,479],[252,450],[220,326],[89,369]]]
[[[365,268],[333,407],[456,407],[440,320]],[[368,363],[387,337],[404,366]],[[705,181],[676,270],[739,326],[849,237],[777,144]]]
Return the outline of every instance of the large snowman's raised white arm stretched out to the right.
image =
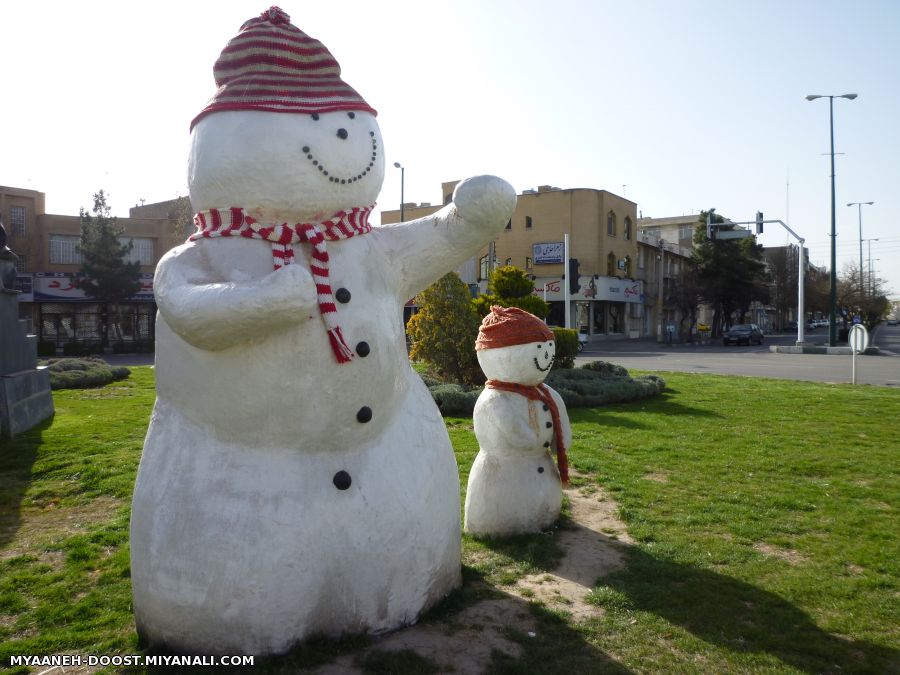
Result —
[[[459,183],[453,201],[435,214],[377,228],[408,299],[493,239],[516,208],[516,191],[496,176]]]

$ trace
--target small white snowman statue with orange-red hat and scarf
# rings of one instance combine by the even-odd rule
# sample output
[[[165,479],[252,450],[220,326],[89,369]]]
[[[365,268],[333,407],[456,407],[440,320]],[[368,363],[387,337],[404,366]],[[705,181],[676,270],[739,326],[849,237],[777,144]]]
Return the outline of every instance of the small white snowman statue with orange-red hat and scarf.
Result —
[[[559,516],[572,429],[562,398],[543,384],[553,340],[543,321],[516,307],[492,307],[481,323],[475,348],[488,380],[473,414],[479,452],[466,491],[469,533],[540,532]]]

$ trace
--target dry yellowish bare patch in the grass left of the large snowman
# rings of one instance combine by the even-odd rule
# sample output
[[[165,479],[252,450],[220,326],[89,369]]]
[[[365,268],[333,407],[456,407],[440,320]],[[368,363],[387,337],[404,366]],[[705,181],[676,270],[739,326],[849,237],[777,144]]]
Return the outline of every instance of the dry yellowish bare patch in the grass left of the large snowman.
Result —
[[[41,507],[25,507],[17,514],[18,518],[0,519],[0,541],[9,540],[0,549],[0,561],[33,555],[41,562],[58,564],[62,556],[58,552],[46,551],[47,544],[107,521],[110,514],[124,505],[121,499],[97,497],[77,506],[59,506],[50,502]]]

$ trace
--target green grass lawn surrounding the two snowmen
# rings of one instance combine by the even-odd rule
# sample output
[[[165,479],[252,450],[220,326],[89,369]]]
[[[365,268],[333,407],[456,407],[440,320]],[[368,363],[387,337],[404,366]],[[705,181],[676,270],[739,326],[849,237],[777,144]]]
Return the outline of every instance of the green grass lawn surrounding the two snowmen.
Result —
[[[52,422],[0,441],[0,664],[138,650],[128,512],[152,372],[56,391]],[[491,672],[900,672],[900,392],[666,380],[655,399],[570,412],[571,464],[618,502],[636,541],[591,592],[605,611],[575,624],[534,604],[537,637],[511,632],[524,657],[498,655]],[[470,419],[447,423],[464,489],[477,443]],[[465,538],[465,586],[431,616],[452,619],[558,556],[544,535]],[[316,643],[269,670],[365,644]]]

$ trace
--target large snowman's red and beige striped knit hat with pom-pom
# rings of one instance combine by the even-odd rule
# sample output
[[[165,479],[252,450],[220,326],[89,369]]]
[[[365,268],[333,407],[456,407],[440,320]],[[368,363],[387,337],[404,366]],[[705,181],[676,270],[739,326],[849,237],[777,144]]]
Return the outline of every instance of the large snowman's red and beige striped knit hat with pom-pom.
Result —
[[[246,21],[213,67],[219,89],[191,121],[225,110],[325,113],[356,110],[376,115],[328,48],[291,24],[279,7]]]

